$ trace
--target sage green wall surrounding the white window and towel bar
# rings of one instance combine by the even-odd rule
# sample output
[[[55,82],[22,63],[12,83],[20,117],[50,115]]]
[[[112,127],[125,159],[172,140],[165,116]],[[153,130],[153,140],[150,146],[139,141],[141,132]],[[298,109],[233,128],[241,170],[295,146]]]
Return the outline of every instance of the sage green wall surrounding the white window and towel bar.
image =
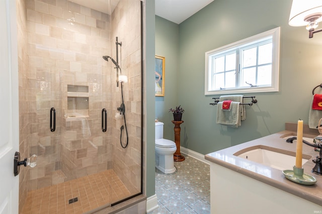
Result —
[[[169,121],[172,119],[167,111],[169,106],[182,105],[185,109],[182,146],[207,154],[282,131],[285,122],[301,118],[308,123],[311,91],[322,82],[322,33],[308,39],[305,27],[289,26],[291,4],[291,0],[215,0],[178,25],[179,60],[175,68],[166,65],[169,70],[179,68],[173,89],[177,94],[166,93],[164,101],[156,101],[162,110],[155,109],[164,112],[159,118]],[[156,53],[159,47],[174,48],[164,38],[165,34],[177,31],[173,30],[173,23],[159,22],[160,19],[156,17]],[[205,52],[276,27],[281,27],[279,92],[244,94],[255,95],[258,103],[246,107],[246,120],[241,126],[216,124],[217,106],[209,103],[212,97],[220,95],[204,95]],[[166,82],[166,92],[168,87],[173,86]],[[174,139],[173,129],[167,128],[165,132],[166,137]]]

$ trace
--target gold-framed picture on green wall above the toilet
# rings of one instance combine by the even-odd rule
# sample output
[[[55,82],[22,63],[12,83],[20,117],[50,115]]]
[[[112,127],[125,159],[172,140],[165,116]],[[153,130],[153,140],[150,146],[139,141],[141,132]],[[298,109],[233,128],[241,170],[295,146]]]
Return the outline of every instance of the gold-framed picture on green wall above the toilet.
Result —
[[[155,96],[165,96],[165,58],[155,56]]]

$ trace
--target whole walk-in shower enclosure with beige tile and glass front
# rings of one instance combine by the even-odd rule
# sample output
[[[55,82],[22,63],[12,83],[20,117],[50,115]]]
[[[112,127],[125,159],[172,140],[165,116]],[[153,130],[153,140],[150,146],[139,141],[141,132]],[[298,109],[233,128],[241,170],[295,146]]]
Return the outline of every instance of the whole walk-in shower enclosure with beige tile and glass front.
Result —
[[[36,167],[20,170],[19,212],[85,213],[141,194],[141,1],[16,2],[19,149],[22,158],[38,156]],[[116,59],[116,37],[128,78],[120,83],[122,139],[121,87],[102,58]]]

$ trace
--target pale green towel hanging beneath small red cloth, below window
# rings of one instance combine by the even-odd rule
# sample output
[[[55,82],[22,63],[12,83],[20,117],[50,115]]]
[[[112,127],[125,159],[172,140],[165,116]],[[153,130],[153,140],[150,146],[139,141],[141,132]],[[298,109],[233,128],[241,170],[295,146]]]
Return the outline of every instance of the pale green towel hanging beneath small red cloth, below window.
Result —
[[[240,110],[239,110],[239,102],[231,102],[230,103],[230,111],[222,110],[222,103],[218,102],[217,104],[217,118],[216,123],[221,125],[226,125],[230,127],[237,128],[241,125],[240,123]]]

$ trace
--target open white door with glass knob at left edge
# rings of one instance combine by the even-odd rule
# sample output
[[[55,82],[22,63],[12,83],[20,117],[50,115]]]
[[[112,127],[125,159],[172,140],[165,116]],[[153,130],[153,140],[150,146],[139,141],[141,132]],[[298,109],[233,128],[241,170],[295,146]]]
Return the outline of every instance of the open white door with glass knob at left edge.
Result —
[[[19,151],[18,50],[16,1],[0,0],[0,214],[18,213]]]

